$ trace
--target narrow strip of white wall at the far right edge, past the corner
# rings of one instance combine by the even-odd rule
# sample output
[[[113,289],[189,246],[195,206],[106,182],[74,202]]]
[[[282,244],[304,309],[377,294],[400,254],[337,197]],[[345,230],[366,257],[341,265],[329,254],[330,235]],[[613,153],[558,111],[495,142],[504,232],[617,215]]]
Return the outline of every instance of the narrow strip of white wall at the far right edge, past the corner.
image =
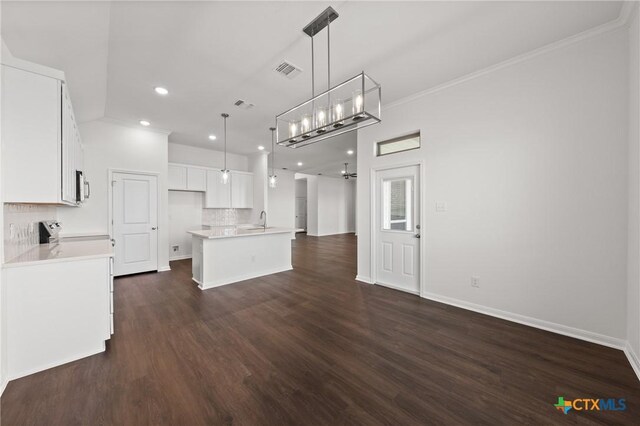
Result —
[[[629,27],[629,239],[627,340],[640,377],[640,25],[638,5]]]

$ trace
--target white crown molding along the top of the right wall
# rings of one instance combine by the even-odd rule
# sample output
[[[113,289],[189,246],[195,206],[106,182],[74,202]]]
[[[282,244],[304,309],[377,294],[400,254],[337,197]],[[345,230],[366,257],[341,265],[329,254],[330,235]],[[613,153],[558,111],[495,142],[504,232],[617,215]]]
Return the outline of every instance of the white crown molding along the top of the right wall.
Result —
[[[402,99],[398,99],[396,101],[390,102],[386,105],[383,105],[382,110],[390,110],[396,108],[400,105],[404,105],[406,103],[413,102],[417,99],[420,99],[424,96],[431,95],[437,92],[441,92],[442,90],[448,89],[450,87],[457,86],[462,83],[466,83],[469,80],[473,80],[478,77],[482,77],[484,75],[490,74],[492,72],[501,70],[503,68],[510,67],[512,65],[519,64],[521,62],[528,61],[530,59],[536,58],[538,56],[544,55],[549,52],[553,52],[554,50],[562,49],[567,46],[571,46],[575,43],[579,43],[584,40],[588,40],[591,38],[599,37],[621,28],[624,28],[629,25],[631,19],[638,11],[638,4],[640,1],[625,1],[623,2],[620,13],[618,17],[613,21],[606,22],[602,25],[598,25],[597,27],[590,28],[586,31],[574,34],[562,40],[554,41],[553,43],[547,44],[545,46],[539,47],[537,49],[531,50],[529,52],[514,56],[511,59],[507,59],[505,61],[499,62],[495,65],[491,65],[489,67],[483,68],[478,71],[471,72],[467,75],[464,75],[459,78],[455,78],[453,80],[449,80],[446,83],[439,84],[437,86],[422,90],[420,92],[414,93],[412,95],[406,96]]]

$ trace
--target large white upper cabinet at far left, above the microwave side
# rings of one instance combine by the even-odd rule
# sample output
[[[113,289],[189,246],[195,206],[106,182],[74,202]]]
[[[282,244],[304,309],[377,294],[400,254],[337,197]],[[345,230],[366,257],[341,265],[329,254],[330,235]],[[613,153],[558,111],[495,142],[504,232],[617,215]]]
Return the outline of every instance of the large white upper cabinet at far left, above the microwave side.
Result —
[[[82,153],[65,84],[2,65],[4,202],[76,203]]]

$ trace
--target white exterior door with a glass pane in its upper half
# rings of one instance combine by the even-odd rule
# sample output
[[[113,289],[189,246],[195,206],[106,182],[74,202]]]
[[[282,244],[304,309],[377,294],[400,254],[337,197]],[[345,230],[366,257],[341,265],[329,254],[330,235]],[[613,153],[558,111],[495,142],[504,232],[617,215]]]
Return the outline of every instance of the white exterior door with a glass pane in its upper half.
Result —
[[[376,174],[376,283],[420,293],[420,168]]]

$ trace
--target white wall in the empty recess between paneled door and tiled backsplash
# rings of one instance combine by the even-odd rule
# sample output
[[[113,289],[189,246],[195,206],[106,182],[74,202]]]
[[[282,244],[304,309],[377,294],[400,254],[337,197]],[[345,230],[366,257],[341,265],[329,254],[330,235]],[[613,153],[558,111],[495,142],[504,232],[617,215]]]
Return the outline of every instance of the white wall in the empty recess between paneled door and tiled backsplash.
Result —
[[[202,226],[204,193],[169,191],[169,260],[191,257],[191,235],[187,231]],[[178,251],[173,251],[173,246]]]

